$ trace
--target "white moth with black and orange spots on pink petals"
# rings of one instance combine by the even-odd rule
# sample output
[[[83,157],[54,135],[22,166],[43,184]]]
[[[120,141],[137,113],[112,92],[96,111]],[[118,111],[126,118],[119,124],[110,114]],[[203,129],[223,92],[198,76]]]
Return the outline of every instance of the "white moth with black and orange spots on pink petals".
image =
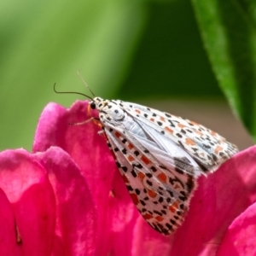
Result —
[[[95,97],[108,147],[138,211],[161,234],[183,223],[201,175],[236,154],[203,125],[135,103]]]

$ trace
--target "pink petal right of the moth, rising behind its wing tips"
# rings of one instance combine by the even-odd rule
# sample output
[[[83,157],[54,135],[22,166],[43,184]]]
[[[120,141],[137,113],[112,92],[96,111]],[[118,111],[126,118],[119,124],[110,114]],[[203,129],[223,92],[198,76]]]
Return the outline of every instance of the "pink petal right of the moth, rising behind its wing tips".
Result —
[[[201,177],[171,255],[215,255],[234,218],[256,198],[256,147],[248,148]]]

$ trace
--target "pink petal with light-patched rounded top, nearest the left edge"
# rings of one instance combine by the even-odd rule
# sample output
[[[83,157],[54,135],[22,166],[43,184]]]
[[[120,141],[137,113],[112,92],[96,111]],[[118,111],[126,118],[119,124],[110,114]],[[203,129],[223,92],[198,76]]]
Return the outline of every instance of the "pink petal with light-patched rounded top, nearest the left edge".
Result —
[[[44,168],[25,150],[3,151],[0,188],[12,204],[24,255],[51,255],[55,196]]]

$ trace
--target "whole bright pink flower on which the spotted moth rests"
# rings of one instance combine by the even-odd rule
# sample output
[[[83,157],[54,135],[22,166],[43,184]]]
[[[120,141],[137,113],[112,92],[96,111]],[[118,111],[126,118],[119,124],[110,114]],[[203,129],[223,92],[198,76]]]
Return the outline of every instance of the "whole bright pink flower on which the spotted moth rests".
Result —
[[[50,103],[33,154],[0,154],[0,255],[255,254],[256,147],[200,177],[183,225],[162,236],[137,212],[98,123],[69,125],[87,119],[88,102]]]

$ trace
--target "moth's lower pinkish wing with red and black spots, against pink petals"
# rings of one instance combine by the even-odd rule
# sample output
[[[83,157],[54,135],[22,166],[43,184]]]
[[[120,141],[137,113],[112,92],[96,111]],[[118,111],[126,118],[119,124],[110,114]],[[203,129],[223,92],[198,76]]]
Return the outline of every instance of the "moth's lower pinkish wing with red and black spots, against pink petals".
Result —
[[[195,177],[183,172],[188,163],[160,161],[130,132],[119,127],[105,126],[104,131],[115,154],[119,171],[124,177],[131,198],[143,218],[154,230],[169,235],[183,223],[188,210]],[[150,150],[152,146],[149,147]],[[158,152],[160,153],[160,152]],[[168,167],[167,167],[168,166]]]

